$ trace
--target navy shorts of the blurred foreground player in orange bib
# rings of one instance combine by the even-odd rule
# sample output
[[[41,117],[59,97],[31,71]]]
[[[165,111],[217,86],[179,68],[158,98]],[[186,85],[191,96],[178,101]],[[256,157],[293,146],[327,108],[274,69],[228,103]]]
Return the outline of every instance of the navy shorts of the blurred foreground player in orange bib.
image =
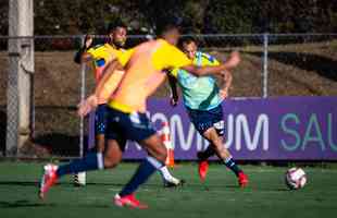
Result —
[[[107,140],[116,140],[124,146],[127,140],[141,142],[155,134],[155,130],[146,113],[125,113],[107,107]]]

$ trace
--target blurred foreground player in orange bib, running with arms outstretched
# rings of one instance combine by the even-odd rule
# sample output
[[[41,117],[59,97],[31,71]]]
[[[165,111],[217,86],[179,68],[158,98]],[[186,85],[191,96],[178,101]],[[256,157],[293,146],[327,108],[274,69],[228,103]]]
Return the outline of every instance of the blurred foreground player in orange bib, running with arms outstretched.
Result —
[[[175,47],[179,38],[179,29],[174,24],[159,28],[160,38],[150,40],[135,47],[132,52],[126,52],[128,61],[124,68],[117,61],[108,66],[107,76],[100,81],[93,95],[89,96],[79,107],[78,113],[85,116],[98,105],[98,98],[105,85],[109,85],[109,76],[120,70],[124,70],[123,78],[115,88],[108,105],[108,140],[104,157],[101,155],[87,155],[84,159],[73,161],[61,167],[46,166],[41,180],[40,196],[42,197],[58,178],[76,171],[88,171],[113,167],[113,156],[120,155],[120,147],[125,146],[127,140],[138,142],[148,153],[140,162],[130,181],[115,195],[114,203],[117,206],[130,206],[147,208],[135,197],[139,185],[145,183],[155,170],[164,166],[166,148],[155,133],[147,117],[146,101],[155,89],[164,82],[164,69],[179,68],[197,75],[220,74],[226,69],[235,68],[240,61],[237,52],[230,59],[216,66],[197,66]]]

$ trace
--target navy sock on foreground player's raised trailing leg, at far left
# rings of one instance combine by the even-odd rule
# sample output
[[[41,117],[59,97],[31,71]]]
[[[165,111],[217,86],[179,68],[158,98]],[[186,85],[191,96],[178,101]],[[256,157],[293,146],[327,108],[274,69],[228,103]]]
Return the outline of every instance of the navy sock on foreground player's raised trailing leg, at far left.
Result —
[[[57,174],[62,177],[64,174],[72,174],[77,172],[85,172],[89,170],[103,169],[103,156],[101,153],[91,153],[79,160],[73,160],[68,165],[60,166]]]

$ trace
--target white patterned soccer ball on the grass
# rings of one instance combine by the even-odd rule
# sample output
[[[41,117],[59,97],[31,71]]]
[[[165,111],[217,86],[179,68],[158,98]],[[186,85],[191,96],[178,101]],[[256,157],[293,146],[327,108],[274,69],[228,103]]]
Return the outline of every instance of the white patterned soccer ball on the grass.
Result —
[[[301,168],[290,168],[286,172],[286,184],[290,190],[302,189],[307,183],[307,175]]]

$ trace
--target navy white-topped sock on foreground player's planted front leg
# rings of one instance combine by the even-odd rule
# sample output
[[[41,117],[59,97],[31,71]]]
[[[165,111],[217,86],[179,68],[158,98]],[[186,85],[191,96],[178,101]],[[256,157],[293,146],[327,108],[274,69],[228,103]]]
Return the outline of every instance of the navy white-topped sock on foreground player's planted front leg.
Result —
[[[132,180],[124,186],[121,196],[129,195],[134,193],[139,185],[145,183],[153,172],[163,167],[163,164],[154,159],[153,157],[147,157],[138,167],[136,173]]]

